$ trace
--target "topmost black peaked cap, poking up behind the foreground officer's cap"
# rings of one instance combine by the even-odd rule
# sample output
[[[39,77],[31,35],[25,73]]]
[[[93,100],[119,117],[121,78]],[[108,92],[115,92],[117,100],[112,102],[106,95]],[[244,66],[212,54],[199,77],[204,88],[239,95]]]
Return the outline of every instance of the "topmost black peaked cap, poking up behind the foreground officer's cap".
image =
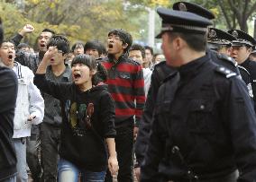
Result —
[[[206,8],[193,4],[193,3],[188,3],[188,2],[178,2],[173,4],[172,6],[173,10],[178,10],[178,11],[184,11],[184,12],[190,12],[190,13],[196,13],[197,15],[203,16],[206,19],[213,20],[215,19],[215,14],[211,13],[209,10]]]

